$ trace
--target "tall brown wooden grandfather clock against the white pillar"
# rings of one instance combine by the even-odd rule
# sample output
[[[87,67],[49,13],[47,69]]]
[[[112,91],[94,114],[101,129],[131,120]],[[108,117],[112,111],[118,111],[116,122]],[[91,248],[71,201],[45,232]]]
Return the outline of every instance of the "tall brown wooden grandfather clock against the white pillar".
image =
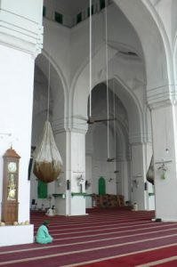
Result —
[[[18,186],[20,156],[15,150],[6,150],[4,156],[2,221],[13,224],[18,221]]]

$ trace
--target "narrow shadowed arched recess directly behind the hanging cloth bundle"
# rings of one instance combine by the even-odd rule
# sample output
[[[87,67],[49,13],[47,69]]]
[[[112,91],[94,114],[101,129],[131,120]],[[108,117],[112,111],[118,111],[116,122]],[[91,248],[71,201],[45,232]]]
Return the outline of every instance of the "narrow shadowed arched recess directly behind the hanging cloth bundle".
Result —
[[[52,61],[51,57],[48,58],[47,55],[41,54],[40,56],[38,56],[36,59],[34,79],[34,101],[31,138],[31,144],[33,147],[36,147],[36,145],[42,140],[44,122],[47,120],[47,113],[49,112],[49,121],[52,125],[52,132],[55,138],[55,142],[60,148],[60,143],[56,139],[56,131],[64,127],[64,117],[66,109],[66,90],[64,89],[64,81],[62,79],[62,75],[59,69],[55,65],[55,62]],[[63,146],[64,145],[65,144],[63,144]],[[51,195],[54,192],[55,182],[47,184],[47,196],[45,195],[45,198],[39,198],[37,194],[36,176],[33,174],[33,172],[31,172],[30,180],[30,198],[36,199],[38,208],[42,206],[49,206],[48,194]],[[53,204],[54,199],[52,199],[52,205]]]

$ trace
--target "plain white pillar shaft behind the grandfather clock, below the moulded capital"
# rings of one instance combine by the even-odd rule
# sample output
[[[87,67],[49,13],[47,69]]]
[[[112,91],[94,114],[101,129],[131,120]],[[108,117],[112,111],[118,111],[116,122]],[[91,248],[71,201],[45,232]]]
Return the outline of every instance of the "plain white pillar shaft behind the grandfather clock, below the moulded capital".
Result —
[[[28,162],[30,158],[34,59],[27,54],[0,45],[0,82],[2,88],[0,105],[0,155],[11,145],[20,155],[19,176],[19,222],[29,221]],[[18,67],[17,67],[18,62]],[[0,165],[0,182],[3,182],[3,158]],[[1,191],[2,198],[2,191]]]

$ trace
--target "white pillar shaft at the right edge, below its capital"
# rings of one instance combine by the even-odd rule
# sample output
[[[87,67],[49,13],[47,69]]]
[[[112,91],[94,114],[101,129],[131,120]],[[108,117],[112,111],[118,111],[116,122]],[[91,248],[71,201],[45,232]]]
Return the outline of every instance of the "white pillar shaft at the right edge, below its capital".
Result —
[[[163,221],[177,221],[177,139],[176,106],[152,109],[153,149],[155,164],[156,218]],[[163,172],[163,161],[165,179]]]

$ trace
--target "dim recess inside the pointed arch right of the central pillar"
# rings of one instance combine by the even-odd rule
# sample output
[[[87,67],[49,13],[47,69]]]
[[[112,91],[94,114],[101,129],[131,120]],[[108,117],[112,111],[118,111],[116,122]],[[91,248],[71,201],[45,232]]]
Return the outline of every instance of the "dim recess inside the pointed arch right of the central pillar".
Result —
[[[93,118],[107,118],[107,88],[105,83],[96,85],[93,88],[92,98]],[[92,160],[92,165],[90,167],[92,168],[91,178],[93,191],[97,191],[98,179],[103,175],[106,177],[109,193],[117,193],[115,182],[116,179],[119,179],[118,190],[122,190],[121,193],[124,194],[125,182],[123,182],[123,180],[128,180],[127,174],[130,173],[128,161],[130,161],[131,158],[128,115],[123,103],[112,90],[109,90],[109,108],[109,117],[116,117],[116,120],[109,122],[109,129],[107,121],[101,121],[88,126],[88,131],[85,135],[86,155]],[[112,161],[108,161],[109,158],[111,158]],[[126,172],[125,168],[127,168]],[[115,171],[117,171],[117,173],[115,173]],[[112,182],[109,182],[110,177],[110,181]]]

